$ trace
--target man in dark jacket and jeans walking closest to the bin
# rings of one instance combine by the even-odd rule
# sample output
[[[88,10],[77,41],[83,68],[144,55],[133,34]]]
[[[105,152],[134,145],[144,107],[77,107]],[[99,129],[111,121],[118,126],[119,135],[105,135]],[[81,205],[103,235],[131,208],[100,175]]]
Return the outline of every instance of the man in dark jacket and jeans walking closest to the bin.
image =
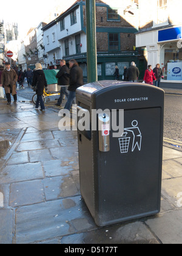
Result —
[[[70,66],[70,85],[69,85],[69,96],[65,105],[65,109],[70,110],[73,102],[75,101],[76,89],[84,85],[83,82],[83,70],[78,66],[78,62],[72,59],[69,61]]]

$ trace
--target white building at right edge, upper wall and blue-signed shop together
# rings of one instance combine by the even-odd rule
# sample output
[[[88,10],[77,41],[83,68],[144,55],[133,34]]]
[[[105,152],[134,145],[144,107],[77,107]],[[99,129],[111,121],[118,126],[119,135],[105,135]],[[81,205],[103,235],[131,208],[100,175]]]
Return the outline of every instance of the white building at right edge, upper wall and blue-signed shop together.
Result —
[[[146,53],[153,68],[160,64],[163,86],[181,88],[182,82],[182,3],[178,0],[139,0],[140,27],[136,47]],[[147,15],[144,15],[147,13]]]

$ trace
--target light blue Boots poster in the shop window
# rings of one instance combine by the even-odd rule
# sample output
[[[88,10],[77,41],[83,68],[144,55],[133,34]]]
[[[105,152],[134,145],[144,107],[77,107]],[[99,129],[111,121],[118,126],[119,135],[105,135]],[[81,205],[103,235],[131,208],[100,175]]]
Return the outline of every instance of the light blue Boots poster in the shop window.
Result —
[[[182,62],[172,62],[167,64],[167,80],[182,80]]]

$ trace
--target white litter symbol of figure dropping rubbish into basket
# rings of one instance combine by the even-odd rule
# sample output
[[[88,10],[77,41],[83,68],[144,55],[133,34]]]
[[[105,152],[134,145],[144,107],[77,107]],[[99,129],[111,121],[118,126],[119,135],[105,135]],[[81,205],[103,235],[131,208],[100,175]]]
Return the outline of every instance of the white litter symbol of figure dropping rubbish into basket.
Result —
[[[127,153],[129,151],[130,143],[132,142],[132,152],[135,150],[136,146],[138,150],[141,151],[141,132],[140,129],[137,127],[138,121],[133,120],[132,127],[125,128],[124,133],[119,138],[120,143],[120,150],[121,154]]]

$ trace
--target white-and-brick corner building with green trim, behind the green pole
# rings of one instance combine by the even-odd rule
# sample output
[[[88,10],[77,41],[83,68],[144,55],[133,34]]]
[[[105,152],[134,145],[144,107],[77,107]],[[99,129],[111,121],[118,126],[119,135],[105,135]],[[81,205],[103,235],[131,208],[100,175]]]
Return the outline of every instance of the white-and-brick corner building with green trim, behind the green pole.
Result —
[[[60,59],[76,59],[87,77],[86,2],[76,1],[66,12],[43,29],[45,52],[50,66]],[[138,32],[137,1],[96,0],[96,44],[98,79],[113,79],[115,66],[120,74],[124,66],[138,61],[135,33]]]

